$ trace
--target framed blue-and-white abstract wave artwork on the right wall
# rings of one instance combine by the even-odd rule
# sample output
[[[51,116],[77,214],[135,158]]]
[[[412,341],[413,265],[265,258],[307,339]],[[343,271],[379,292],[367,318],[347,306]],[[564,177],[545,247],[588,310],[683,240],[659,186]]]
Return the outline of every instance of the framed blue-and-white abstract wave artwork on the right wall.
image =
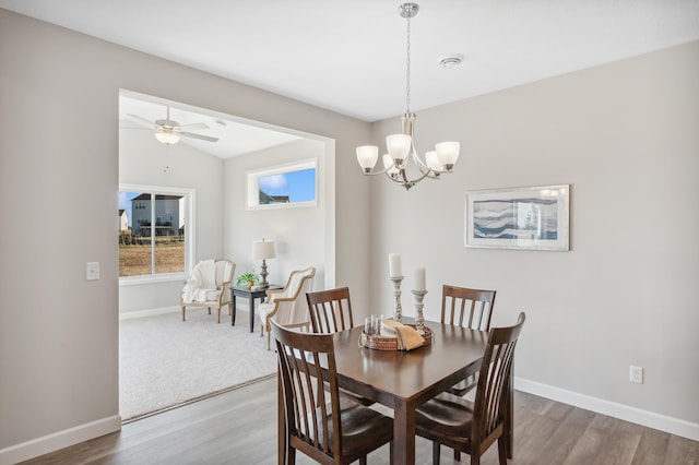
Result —
[[[570,184],[466,192],[464,246],[569,250]]]

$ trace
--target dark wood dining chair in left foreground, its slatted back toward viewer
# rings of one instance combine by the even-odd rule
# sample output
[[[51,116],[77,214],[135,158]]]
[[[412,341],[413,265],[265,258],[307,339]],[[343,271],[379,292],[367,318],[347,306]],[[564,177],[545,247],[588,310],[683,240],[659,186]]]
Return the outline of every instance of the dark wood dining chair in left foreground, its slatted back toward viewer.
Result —
[[[300,451],[321,464],[366,465],[367,454],[387,443],[393,463],[393,420],[340,396],[332,334],[296,332],[274,320],[271,326],[284,393],[285,463],[296,463]]]

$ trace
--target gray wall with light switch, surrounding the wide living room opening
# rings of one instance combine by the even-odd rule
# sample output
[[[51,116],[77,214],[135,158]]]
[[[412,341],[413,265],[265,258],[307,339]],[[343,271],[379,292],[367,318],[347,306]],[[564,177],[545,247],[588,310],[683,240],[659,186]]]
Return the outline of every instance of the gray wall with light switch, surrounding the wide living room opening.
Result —
[[[1,212],[24,218],[0,228],[0,463],[119,428],[120,88],[333,139],[336,279],[366,287],[369,252],[348,245],[368,242],[354,147],[369,124],[5,10],[0,69]],[[91,218],[83,234],[56,227],[68,211]],[[91,261],[99,281],[85,279]]]

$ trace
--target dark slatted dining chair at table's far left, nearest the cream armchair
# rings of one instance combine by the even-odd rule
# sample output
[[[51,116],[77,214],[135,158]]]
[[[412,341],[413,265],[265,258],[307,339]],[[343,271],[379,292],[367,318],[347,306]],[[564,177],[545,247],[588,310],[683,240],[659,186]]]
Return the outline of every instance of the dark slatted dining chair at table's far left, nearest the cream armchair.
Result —
[[[313,333],[336,333],[354,326],[350,288],[306,293]]]

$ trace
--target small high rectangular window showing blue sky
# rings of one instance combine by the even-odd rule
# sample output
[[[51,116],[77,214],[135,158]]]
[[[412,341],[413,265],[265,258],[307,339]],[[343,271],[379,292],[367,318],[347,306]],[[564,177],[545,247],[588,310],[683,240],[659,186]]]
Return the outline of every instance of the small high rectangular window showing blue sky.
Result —
[[[248,208],[316,205],[316,159],[248,171]]]

